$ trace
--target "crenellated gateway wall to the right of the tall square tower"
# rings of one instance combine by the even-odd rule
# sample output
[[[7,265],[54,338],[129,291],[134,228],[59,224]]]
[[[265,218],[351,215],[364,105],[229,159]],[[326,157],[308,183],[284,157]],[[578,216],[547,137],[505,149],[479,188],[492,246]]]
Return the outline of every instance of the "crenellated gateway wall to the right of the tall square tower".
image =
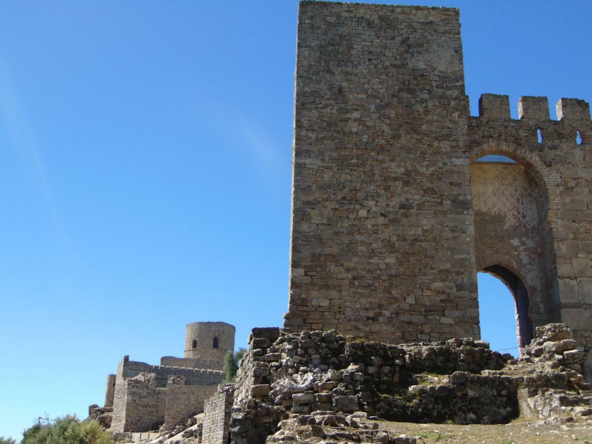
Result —
[[[514,206],[532,213],[526,208],[534,201],[538,220],[517,218],[506,228],[507,218],[492,217],[494,211],[480,206],[474,189],[477,270],[499,264],[519,275],[529,287],[534,326],[568,323],[578,347],[587,352],[592,346],[590,109],[584,101],[560,99],[558,120],[550,120],[547,99],[529,96],[520,98],[518,108],[519,119],[511,119],[508,96],[483,95],[480,117],[469,119],[469,156],[498,153],[516,160],[530,181],[530,203]],[[519,186],[515,176],[507,179],[506,186]],[[592,377],[592,368],[584,368],[584,374]]]

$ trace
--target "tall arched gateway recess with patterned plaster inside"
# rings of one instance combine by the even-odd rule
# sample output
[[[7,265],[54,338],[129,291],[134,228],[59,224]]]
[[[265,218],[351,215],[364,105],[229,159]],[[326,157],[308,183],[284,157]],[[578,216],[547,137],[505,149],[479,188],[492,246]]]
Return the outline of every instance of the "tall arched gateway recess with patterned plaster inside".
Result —
[[[471,164],[477,271],[493,264],[511,271],[529,294],[530,319],[536,324],[555,320],[559,306],[555,235],[560,229],[561,176],[545,165],[535,150],[505,141],[488,141],[469,152],[471,161],[495,154],[516,163]],[[497,191],[506,200],[497,199]],[[500,214],[504,212],[507,219],[502,222]],[[514,216],[511,221],[510,215]]]

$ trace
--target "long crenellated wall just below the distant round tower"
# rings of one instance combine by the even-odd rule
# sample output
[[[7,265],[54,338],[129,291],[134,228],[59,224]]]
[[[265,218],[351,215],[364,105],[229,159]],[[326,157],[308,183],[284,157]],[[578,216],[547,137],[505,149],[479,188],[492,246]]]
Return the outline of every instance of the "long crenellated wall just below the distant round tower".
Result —
[[[190,385],[218,385],[224,380],[222,371],[150,365],[146,362],[130,361],[129,356],[124,356],[119,363],[117,379],[133,378],[141,372],[155,374],[158,387],[166,387],[169,377],[172,376],[185,377]]]

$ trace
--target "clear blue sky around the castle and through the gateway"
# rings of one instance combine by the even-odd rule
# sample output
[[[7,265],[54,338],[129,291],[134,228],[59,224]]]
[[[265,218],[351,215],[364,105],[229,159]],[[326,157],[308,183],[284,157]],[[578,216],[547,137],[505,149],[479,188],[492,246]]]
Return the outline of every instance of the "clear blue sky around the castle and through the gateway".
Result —
[[[514,117],[520,95],[592,101],[592,2],[413,4],[461,8],[473,114],[482,92]],[[296,20],[295,0],[0,2],[0,436],[86,416],[123,355],[181,356],[188,322],[237,346],[281,325]],[[510,347],[496,282],[483,336]]]

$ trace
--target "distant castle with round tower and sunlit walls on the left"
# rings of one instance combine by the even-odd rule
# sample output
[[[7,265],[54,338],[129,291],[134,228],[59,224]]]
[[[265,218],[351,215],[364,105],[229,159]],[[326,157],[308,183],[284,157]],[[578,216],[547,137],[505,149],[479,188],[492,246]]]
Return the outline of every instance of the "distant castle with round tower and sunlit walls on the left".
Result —
[[[234,326],[194,322],[185,331],[185,357],[163,356],[160,365],[124,356],[108,375],[104,407],[91,406],[111,432],[165,430],[204,411],[204,401],[224,382],[224,355],[234,352]]]

